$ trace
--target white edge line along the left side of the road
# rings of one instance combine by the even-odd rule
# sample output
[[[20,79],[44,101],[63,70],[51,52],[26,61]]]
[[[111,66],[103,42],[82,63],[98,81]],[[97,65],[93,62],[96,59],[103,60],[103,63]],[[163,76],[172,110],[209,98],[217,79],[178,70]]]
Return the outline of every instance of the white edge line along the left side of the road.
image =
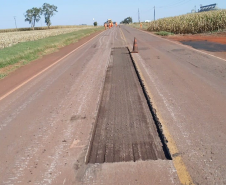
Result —
[[[103,31],[101,32],[103,33]],[[10,94],[12,94],[14,91],[16,91],[17,89],[21,88],[22,86],[24,86],[25,84],[27,84],[28,82],[30,82],[31,80],[33,80],[34,78],[36,78],[37,76],[39,76],[40,74],[44,73],[45,71],[47,71],[49,68],[51,68],[52,66],[54,66],[55,64],[59,63],[61,60],[65,59],[66,57],[68,57],[70,54],[72,54],[73,52],[75,52],[76,50],[78,50],[79,48],[81,48],[82,46],[84,46],[85,44],[87,44],[88,42],[92,41],[93,39],[95,39],[97,36],[99,36],[101,33],[99,33],[98,35],[96,35],[95,37],[93,37],[92,39],[88,40],[87,42],[85,42],[84,44],[82,44],[81,46],[77,47],[76,49],[74,49],[73,51],[71,51],[70,53],[68,53],[67,55],[63,56],[62,58],[60,58],[59,60],[57,60],[56,62],[54,62],[53,64],[51,64],[50,66],[48,66],[47,68],[43,69],[42,71],[40,71],[39,73],[37,73],[36,75],[32,76],[31,78],[29,78],[28,80],[26,80],[25,82],[23,82],[22,84],[18,85],[17,87],[15,87],[14,89],[12,89],[11,91],[9,91],[8,93],[6,93],[5,95],[0,97],[0,101],[3,100],[4,98],[6,98],[7,96],[9,96]]]

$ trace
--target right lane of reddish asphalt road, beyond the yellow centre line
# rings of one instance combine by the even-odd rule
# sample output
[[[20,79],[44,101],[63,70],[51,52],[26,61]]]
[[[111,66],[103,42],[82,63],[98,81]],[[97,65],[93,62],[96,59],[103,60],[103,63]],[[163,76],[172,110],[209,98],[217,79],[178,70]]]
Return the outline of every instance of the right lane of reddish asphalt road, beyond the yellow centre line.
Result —
[[[134,59],[193,183],[226,184],[226,61],[147,32],[122,30],[130,47],[133,37],[138,40]]]

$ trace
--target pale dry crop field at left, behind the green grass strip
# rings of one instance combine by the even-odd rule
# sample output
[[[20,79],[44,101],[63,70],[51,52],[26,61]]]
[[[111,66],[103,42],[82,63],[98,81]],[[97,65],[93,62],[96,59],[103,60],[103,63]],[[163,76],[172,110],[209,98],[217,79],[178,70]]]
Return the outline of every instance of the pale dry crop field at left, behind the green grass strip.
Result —
[[[56,36],[73,31],[88,29],[91,26],[77,26],[73,28],[49,29],[49,30],[34,30],[34,31],[18,31],[18,32],[5,32],[0,33],[0,49],[10,47],[20,42],[34,41],[43,39],[50,36]],[[92,26],[93,28],[93,26]]]

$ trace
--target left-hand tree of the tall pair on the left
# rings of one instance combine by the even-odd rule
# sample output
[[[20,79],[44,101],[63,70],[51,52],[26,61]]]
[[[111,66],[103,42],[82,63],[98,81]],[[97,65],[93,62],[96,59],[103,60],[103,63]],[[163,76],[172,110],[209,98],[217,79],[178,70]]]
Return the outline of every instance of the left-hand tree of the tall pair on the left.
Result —
[[[32,9],[28,9],[24,16],[25,16],[25,21],[28,21],[34,30],[35,23],[41,19],[41,8],[34,7]]]

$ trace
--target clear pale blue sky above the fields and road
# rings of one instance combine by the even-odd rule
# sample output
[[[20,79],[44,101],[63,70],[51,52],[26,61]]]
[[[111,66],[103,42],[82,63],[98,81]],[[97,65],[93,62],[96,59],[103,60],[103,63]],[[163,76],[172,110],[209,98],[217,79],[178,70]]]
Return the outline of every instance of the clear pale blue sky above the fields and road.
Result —
[[[0,0],[0,29],[15,28],[14,16],[17,27],[30,27],[24,21],[26,10],[44,3],[58,7],[52,25],[92,25],[94,21],[102,25],[107,19],[121,22],[129,16],[138,22],[138,8],[141,21],[153,20],[154,6],[156,19],[186,14],[195,6],[198,10],[200,5],[213,3],[226,9],[226,0]],[[43,17],[36,26],[45,26]]]

